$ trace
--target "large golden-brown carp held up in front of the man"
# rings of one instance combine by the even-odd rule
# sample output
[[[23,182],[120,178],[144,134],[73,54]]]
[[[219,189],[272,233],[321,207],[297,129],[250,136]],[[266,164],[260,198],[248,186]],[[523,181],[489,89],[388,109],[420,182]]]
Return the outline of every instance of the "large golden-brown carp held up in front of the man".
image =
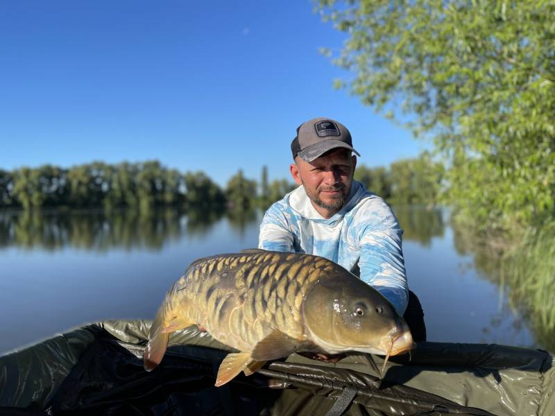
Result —
[[[329,259],[292,252],[250,249],[191,263],[157,311],[145,370],[160,364],[171,332],[195,324],[239,351],[223,359],[216,386],[294,352],[379,354],[387,361],[416,345],[375,288]]]

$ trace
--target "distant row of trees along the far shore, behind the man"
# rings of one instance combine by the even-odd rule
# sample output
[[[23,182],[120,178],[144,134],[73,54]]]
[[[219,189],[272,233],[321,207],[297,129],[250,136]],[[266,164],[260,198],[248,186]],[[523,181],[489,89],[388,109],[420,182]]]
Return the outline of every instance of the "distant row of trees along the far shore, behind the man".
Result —
[[[371,191],[396,204],[435,205],[443,177],[441,164],[427,153],[389,168],[357,168],[355,177]],[[268,181],[262,168],[260,181],[244,177],[239,170],[222,189],[206,173],[181,173],[160,162],[106,164],[93,162],[60,168],[0,169],[0,207],[24,209],[47,207],[154,207],[185,209],[266,208],[293,190],[288,180]]]

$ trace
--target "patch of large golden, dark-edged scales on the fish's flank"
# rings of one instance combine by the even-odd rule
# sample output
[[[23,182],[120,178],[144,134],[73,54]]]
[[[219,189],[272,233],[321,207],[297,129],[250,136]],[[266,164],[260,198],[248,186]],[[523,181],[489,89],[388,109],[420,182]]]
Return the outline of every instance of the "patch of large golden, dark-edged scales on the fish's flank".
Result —
[[[212,329],[214,332],[225,333],[225,329],[229,329],[234,336],[225,336],[226,339],[222,340],[224,343],[225,341],[229,342],[229,338],[244,336],[250,330],[248,324],[252,324],[254,316],[260,316],[260,313],[265,322],[277,322],[280,328],[289,327],[297,336],[302,334],[302,329],[297,328],[300,320],[294,318],[295,314],[291,311],[284,313],[280,309],[284,303],[289,304],[288,309],[291,306],[295,307],[295,302],[284,302],[283,298],[287,295],[289,288],[289,279],[291,278],[289,271],[292,268],[298,270],[305,263],[305,261],[298,260],[291,254],[283,256],[281,253],[268,254],[264,252],[243,256],[222,255],[195,261],[185,273],[190,288],[190,291],[187,291],[185,302],[195,303],[197,313],[191,313],[192,311],[182,313],[183,318],[193,321],[205,316],[206,318],[202,319],[205,321],[203,326],[208,331]],[[278,261],[281,263],[278,264]],[[225,273],[227,275],[224,277]],[[308,273],[303,275],[306,276]],[[214,286],[220,287],[214,289]],[[296,286],[298,286],[297,283]],[[258,288],[260,287],[263,288],[262,297],[248,296],[248,293],[252,291],[259,293]],[[237,313],[233,315],[231,315],[230,309],[232,308],[230,306],[223,307],[225,303],[228,305],[232,303],[230,290],[234,291],[234,295],[231,297],[234,297],[234,306],[238,308]],[[199,298],[206,300],[204,305],[195,302]],[[254,305],[250,299],[255,301]],[[250,304],[245,308],[244,304],[247,301]],[[297,316],[300,315],[297,314]],[[227,328],[225,328],[226,326]],[[237,341],[244,344],[243,340]]]

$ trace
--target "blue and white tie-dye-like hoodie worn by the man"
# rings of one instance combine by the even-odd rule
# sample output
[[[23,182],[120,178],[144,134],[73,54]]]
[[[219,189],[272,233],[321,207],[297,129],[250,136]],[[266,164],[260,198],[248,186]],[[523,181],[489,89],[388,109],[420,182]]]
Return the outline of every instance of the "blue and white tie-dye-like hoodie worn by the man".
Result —
[[[325,257],[358,274],[402,315],[408,286],[402,229],[382,198],[352,181],[348,202],[332,218],[314,209],[300,186],[275,202],[260,225],[258,247]]]

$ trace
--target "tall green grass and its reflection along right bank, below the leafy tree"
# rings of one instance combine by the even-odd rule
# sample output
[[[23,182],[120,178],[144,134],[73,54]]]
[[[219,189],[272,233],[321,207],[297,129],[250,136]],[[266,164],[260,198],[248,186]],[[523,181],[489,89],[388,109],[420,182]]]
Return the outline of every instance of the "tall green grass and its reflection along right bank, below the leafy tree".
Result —
[[[511,244],[468,224],[453,229],[457,252],[473,254],[476,270],[500,291],[509,288],[511,307],[530,323],[537,343],[555,351],[555,225],[529,229]]]

